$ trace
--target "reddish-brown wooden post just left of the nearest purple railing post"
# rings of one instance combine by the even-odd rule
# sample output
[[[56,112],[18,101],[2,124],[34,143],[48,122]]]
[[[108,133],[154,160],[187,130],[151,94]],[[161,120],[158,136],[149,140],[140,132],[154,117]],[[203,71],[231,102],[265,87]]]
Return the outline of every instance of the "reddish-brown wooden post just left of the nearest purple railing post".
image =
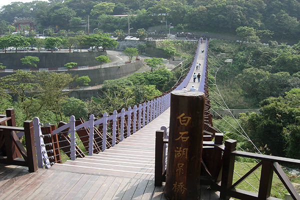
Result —
[[[33,122],[30,120],[26,120],[23,122],[24,124],[24,135],[25,135],[25,143],[26,143],[26,153],[27,153],[27,162],[29,171],[37,170],[36,163],[36,151],[34,144],[34,132],[33,132]]]

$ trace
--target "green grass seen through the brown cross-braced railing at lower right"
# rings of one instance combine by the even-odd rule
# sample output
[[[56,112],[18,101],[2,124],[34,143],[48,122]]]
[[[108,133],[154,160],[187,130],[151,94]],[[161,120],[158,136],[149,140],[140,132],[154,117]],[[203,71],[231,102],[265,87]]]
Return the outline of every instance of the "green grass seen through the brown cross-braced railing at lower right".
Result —
[[[257,162],[235,161],[234,171],[237,174],[239,174],[240,176],[243,176],[256,164],[257,164]],[[258,167],[247,178],[245,178],[245,180],[243,180],[239,185],[237,185],[236,188],[258,193],[257,190],[259,188],[260,171],[261,171],[261,166]],[[237,175],[235,172],[233,174],[233,183],[240,178],[240,176]],[[286,171],[285,171],[285,174],[287,174],[287,176],[291,180],[291,182],[300,183],[300,177],[292,177]],[[298,192],[300,192],[300,191],[298,191]],[[280,181],[280,179],[274,172],[273,179],[272,179],[271,196],[284,199],[284,193],[288,193],[288,191],[286,190],[286,188],[284,187],[284,185],[282,184],[282,182]]]

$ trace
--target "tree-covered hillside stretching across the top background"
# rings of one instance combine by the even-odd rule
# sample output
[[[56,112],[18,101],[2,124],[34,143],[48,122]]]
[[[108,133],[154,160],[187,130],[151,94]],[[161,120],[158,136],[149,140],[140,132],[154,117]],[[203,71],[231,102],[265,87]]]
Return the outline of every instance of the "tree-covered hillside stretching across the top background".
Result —
[[[130,17],[134,29],[162,25],[167,20],[177,30],[213,31],[235,34],[239,26],[270,30],[278,39],[300,38],[299,0],[49,0],[13,2],[0,11],[0,33],[17,17],[34,17],[39,28],[58,25],[73,28],[81,19],[90,29],[128,29]],[[160,22],[160,21],[164,22]],[[83,26],[86,24],[84,22]],[[81,24],[82,25],[82,24]]]

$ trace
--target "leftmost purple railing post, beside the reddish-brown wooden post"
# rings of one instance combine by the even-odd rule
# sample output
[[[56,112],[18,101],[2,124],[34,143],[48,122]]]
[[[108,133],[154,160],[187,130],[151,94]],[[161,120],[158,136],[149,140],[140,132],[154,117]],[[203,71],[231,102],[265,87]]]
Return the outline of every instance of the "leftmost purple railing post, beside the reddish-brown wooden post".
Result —
[[[35,137],[35,146],[36,146],[36,157],[37,157],[37,164],[38,168],[46,168],[50,167],[49,158],[46,152],[45,144],[42,138],[39,118],[33,118],[33,130],[34,130],[34,137]]]

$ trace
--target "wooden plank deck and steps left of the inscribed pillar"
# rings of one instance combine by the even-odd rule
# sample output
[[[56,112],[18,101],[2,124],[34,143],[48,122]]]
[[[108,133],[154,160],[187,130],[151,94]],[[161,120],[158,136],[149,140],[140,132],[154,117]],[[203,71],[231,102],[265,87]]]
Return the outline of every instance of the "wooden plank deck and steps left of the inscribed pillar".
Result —
[[[154,186],[154,145],[168,123],[169,108],[112,148],[49,169],[1,164],[0,199],[166,199],[164,185]],[[202,187],[200,199],[219,198]]]

